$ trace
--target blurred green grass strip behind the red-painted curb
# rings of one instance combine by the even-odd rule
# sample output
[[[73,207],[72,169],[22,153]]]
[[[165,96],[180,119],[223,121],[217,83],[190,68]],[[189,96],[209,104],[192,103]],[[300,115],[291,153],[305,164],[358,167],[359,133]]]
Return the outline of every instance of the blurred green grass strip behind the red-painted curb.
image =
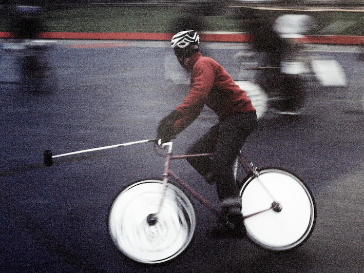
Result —
[[[316,27],[308,34],[364,35],[364,12],[265,10],[266,16],[310,14]],[[83,7],[48,12],[45,24],[49,32],[156,32],[168,33],[181,13],[176,7]],[[205,31],[245,31],[239,22],[224,16],[207,17]],[[9,19],[0,17],[0,31],[10,31]]]

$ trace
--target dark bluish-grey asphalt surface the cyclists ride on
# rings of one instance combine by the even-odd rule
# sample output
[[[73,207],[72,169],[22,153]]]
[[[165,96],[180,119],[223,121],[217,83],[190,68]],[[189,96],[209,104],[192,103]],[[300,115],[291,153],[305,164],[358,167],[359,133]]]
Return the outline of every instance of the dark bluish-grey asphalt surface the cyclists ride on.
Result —
[[[206,48],[238,74],[233,56],[239,46]],[[154,138],[158,121],[187,90],[165,79],[168,50],[164,42],[58,41],[47,53],[49,88],[40,92],[16,84],[16,66],[2,50],[0,271],[362,272],[364,64],[355,47],[310,47],[316,57],[340,63],[348,86],[308,84],[302,115],[265,115],[243,148],[257,166],[289,169],[311,187],[318,217],[302,247],[272,253],[246,239],[208,239],[214,216],[195,202],[195,239],[172,262],[142,265],[114,248],[107,230],[113,198],[132,181],[159,177],[163,159],[151,144],[141,144],[54,159],[45,167],[43,151],[61,154]],[[204,110],[178,136],[175,153],[215,123],[215,115]],[[186,162],[175,163],[174,170],[218,205],[214,186]]]

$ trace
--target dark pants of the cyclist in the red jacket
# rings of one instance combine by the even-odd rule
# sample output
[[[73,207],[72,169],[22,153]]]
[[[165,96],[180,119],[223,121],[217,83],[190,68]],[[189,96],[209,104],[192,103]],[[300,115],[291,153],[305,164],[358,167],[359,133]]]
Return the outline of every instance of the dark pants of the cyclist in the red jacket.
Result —
[[[187,154],[214,154],[212,158],[192,157],[187,161],[203,177],[213,175],[220,201],[239,197],[233,165],[241,146],[256,124],[255,112],[232,115],[210,128],[187,150]]]

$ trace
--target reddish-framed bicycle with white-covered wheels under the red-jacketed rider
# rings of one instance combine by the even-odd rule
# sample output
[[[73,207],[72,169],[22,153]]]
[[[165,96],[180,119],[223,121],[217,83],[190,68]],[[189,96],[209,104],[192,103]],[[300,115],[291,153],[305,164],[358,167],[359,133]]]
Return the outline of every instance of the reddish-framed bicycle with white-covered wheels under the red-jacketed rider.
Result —
[[[122,189],[111,205],[108,225],[113,243],[125,256],[158,264],[179,256],[194,236],[196,213],[189,196],[217,217],[222,213],[170,169],[173,160],[213,154],[173,155],[173,142],[157,140],[131,144],[144,142],[165,149],[162,179],[140,180]],[[290,250],[308,240],[316,222],[316,205],[309,187],[290,171],[258,170],[240,152],[234,164],[236,179],[241,171],[247,174],[239,185],[248,239],[274,251]]]

